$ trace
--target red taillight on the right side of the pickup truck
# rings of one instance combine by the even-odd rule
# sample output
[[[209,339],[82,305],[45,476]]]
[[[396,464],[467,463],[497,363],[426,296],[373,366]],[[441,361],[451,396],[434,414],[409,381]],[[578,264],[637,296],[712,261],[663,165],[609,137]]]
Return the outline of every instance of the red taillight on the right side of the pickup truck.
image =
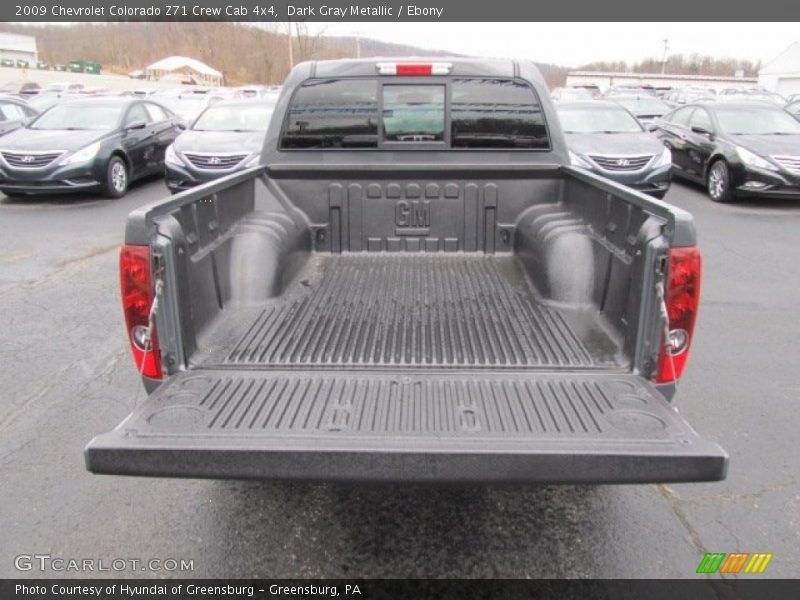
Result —
[[[702,261],[697,248],[672,248],[669,251],[666,289],[669,337],[662,340],[656,374],[658,383],[675,381],[683,374],[700,301],[701,271]]]

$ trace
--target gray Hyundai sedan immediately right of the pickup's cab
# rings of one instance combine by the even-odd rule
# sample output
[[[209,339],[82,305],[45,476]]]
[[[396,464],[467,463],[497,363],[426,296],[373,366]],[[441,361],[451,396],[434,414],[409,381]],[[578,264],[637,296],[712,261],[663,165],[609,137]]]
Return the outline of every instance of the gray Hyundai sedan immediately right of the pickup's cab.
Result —
[[[574,166],[663,198],[669,190],[669,150],[615,102],[557,105]]]

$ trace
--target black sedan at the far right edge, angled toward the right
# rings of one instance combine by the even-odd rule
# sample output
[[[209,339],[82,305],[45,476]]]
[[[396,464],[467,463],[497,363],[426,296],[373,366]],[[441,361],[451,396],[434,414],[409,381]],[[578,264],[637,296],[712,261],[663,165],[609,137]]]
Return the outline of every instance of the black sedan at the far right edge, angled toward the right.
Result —
[[[800,122],[766,103],[683,106],[657,122],[673,173],[704,184],[715,202],[800,198]]]

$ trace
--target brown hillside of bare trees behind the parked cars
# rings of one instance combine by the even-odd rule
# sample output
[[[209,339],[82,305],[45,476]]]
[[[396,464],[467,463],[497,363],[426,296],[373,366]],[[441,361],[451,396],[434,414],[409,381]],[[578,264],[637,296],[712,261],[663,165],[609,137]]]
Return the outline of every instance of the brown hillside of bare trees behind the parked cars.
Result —
[[[287,24],[250,26],[238,23],[78,23],[70,26],[26,26],[2,24],[2,31],[36,37],[39,55],[49,63],[68,63],[73,59],[92,60],[105,72],[126,74],[171,55],[191,56],[222,71],[228,84],[283,81],[289,71]],[[448,52],[391,44],[371,38],[311,34],[302,23],[292,24],[292,60],[330,58],[391,57],[409,55],[445,56]],[[536,63],[548,85],[564,85],[571,70],[627,71],[660,73],[656,58],[637,63],[594,62],[577,69]],[[728,75],[737,70],[755,76],[759,63],[718,59],[698,54],[668,57],[665,71],[685,75]]]

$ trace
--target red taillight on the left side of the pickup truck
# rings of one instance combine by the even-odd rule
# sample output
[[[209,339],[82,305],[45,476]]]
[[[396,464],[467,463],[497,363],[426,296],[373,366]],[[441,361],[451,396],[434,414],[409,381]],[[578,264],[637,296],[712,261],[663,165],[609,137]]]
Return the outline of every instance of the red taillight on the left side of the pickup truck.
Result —
[[[131,346],[136,368],[153,379],[161,379],[161,352],[155,327],[150,336],[149,347],[141,334],[148,326],[150,307],[153,304],[153,283],[150,277],[150,248],[148,246],[125,245],[119,253],[119,277],[122,289],[122,309],[125,313],[125,329]]]

